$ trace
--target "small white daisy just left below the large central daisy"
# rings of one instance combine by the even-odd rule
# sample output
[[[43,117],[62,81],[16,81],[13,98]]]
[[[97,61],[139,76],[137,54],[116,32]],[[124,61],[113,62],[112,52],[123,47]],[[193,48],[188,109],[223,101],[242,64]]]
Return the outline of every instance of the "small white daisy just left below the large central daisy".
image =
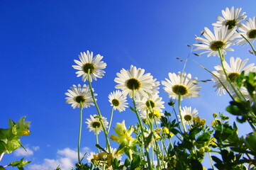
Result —
[[[108,95],[108,101],[111,103],[111,106],[119,112],[126,111],[126,108],[128,108],[128,103],[126,103],[126,96],[123,96],[121,91],[113,91],[111,94]]]

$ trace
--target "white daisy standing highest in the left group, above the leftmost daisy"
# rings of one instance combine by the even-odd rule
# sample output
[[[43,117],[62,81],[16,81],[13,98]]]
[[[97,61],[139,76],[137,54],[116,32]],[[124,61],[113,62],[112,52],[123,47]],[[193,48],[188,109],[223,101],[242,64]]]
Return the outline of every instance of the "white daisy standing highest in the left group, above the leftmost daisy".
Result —
[[[82,76],[82,81],[87,81],[88,79],[88,70],[90,69],[90,76],[92,79],[97,80],[98,78],[102,78],[104,76],[104,71],[102,69],[106,68],[106,63],[101,61],[103,56],[96,55],[93,57],[93,52],[87,53],[81,52],[79,55],[79,60],[74,60],[77,65],[72,65],[74,69],[78,69],[76,72],[77,77]],[[91,81],[92,81],[91,79]]]

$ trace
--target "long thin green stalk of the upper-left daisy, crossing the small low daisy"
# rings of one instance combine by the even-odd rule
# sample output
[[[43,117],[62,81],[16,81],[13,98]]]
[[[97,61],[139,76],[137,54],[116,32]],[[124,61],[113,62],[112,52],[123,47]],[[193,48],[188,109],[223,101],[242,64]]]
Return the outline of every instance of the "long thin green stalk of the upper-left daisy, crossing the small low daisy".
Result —
[[[88,82],[89,82],[89,87],[90,87],[90,91],[91,91],[91,97],[92,97],[92,99],[93,99],[93,101],[94,101],[94,105],[95,105],[96,110],[97,110],[97,112],[98,112],[98,115],[99,115],[99,117],[100,117],[99,120],[100,120],[100,122],[101,122],[103,131],[104,131],[104,135],[105,135],[105,138],[106,138],[106,145],[107,145],[107,147],[108,147],[108,152],[110,153],[110,152],[111,152],[111,149],[110,149],[110,142],[109,142],[109,140],[108,140],[108,132],[106,132],[105,125],[104,125],[104,123],[102,122],[101,111],[99,111],[99,106],[98,106],[98,104],[97,104],[97,102],[96,102],[96,99],[95,99],[95,96],[94,96],[94,91],[92,90],[92,87],[91,87],[91,77],[90,77],[89,72],[90,72],[90,69],[88,69],[88,74],[87,74],[87,75],[88,75]]]

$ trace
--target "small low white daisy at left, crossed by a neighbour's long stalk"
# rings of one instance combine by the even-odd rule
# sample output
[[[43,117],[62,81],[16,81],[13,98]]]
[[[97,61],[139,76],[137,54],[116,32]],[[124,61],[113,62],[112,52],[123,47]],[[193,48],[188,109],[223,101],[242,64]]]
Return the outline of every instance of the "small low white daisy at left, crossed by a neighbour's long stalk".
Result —
[[[106,118],[104,118],[103,116],[101,118],[104,127],[108,128],[108,122],[106,121]],[[88,122],[85,123],[87,123],[87,128],[89,128],[89,132],[94,131],[95,135],[99,135],[99,132],[103,131],[103,127],[101,125],[101,121],[99,120],[98,115],[90,115],[90,119],[88,118],[87,121]]]

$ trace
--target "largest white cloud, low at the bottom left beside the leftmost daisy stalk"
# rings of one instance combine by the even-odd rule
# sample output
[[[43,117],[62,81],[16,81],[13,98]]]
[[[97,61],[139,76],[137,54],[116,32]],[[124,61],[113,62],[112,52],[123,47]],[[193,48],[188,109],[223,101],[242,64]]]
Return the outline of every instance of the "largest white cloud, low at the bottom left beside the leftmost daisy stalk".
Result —
[[[81,149],[82,153],[89,152],[89,147]],[[80,157],[83,155],[81,154]],[[30,170],[42,170],[42,169],[56,169],[60,166],[61,169],[69,170],[74,167],[77,162],[77,151],[66,147],[65,149],[58,149],[56,159],[43,159],[43,164],[30,164],[28,169]]]

